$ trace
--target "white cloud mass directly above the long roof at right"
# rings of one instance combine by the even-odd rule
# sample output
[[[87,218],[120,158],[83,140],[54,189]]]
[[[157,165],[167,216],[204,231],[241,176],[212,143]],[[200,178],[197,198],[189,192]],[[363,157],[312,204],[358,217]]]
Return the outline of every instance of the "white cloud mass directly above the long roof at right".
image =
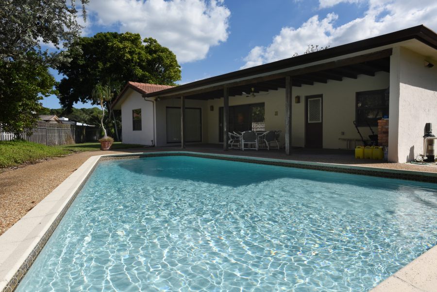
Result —
[[[319,0],[322,3],[339,3],[351,0]],[[352,0],[353,1],[353,0]],[[291,57],[303,53],[307,45],[335,47],[341,44],[387,34],[424,24],[437,29],[437,1],[421,0],[420,5],[410,0],[366,0],[369,8],[363,17],[335,26],[337,15],[325,18],[313,16],[299,28],[284,27],[266,47],[257,46],[244,58],[241,69]],[[361,1],[362,2],[362,1]]]

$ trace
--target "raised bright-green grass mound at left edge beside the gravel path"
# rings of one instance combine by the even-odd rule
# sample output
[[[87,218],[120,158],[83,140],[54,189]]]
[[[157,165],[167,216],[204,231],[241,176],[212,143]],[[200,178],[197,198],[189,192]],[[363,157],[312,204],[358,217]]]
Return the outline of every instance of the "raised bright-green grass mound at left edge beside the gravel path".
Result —
[[[66,149],[28,141],[0,141],[0,168],[35,162],[48,157],[64,156]]]

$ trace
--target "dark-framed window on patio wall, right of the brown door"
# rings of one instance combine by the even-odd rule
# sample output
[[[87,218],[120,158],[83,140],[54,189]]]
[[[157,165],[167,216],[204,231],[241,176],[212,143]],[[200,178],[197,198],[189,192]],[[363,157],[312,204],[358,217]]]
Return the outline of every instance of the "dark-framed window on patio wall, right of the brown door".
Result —
[[[378,120],[388,116],[388,91],[386,89],[356,93],[355,120],[358,126],[377,126]]]

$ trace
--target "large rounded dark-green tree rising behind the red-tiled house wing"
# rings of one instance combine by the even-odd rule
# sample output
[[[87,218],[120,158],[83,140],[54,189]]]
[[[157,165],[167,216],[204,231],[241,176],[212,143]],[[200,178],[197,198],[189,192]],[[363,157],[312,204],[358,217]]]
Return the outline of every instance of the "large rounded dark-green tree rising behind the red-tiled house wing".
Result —
[[[114,93],[128,81],[174,85],[181,79],[175,54],[153,38],[141,40],[139,34],[81,37],[66,55],[71,61],[58,68],[65,77],[57,86],[64,108],[92,101],[91,93],[99,83],[110,85]]]

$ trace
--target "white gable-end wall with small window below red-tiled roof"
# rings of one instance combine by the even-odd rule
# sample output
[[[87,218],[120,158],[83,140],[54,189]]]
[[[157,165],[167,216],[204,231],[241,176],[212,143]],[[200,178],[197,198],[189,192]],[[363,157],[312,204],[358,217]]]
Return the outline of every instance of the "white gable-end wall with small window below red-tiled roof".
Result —
[[[144,101],[141,94],[129,89],[121,103],[122,141],[127,144],[151,145],[154,130],[153,102]],[[141,108],[141,131],[133,130],[132,110]]]

